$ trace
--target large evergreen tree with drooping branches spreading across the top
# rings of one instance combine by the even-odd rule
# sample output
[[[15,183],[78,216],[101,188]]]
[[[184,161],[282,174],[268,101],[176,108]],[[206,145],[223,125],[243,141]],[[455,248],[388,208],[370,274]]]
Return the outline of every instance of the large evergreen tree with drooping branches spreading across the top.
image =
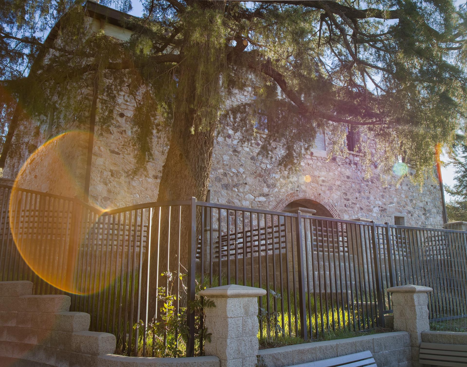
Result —
[[[128,11],[130,0],[101,4]],[[467,13],[451,0],[145,0],[127,19],[129,42],[86,30],[82,0],[0,0],[4,162],[24,116],[79,120],[92,101],[98,123],[113,116],[116,93],[136,104],[134,144],[144,166],[153,131],[170,148],[158,201],[205,199],[216,131],[245,139],[268,130],[261,154],[283,147],[282,165],[300,162],[317,131],[331,131],[346,154],[349,126],[363,164],[392,174],[405,157],[410,178],[432,174],[437,144],[450,145],[466,116]],[[53,28],[52,28],[53,27]],[[47,29],[59,42],[44,43]],[[233,96],[249,98],[229,105]],[[16,112],[15,112],[16,111]],[[277,152],[276,152],[277,154]],[[1,163],[1,162],[0,162]],[[188,246],[189,241],[182,243]],[[186,264],[189,251],[182,251]],[[153,260],[151,260],[151,263]],[[178,260],[177,260],[178,261]],[[154,281],[157,274],[151,275]]]

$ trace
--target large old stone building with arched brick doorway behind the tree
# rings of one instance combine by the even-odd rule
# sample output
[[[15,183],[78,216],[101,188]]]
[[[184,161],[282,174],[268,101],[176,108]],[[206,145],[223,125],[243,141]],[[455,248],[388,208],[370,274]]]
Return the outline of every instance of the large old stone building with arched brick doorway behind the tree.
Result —
[[[131,30],[120,25],[122,13],[92,1],[87,2],[86,9],[92,29],[104,29],[106,35],[122,40],[131,35]],[[163,133],[155,133],[154,159],[145,170],[135,172],[130,125],[133,112],[133,100],[121,91],[110,126],[96,126],[89,171],[92,205],[114,209],[157,199],[167,139]],[[350,151],[348,157],[328,159],[329,132],[317,137],[316,148],[304,156],[297,172],[287,172],[278,166],[277,157],[258,154],[265,134],[260,132],[248,144],[241,144],[239,134],[228,126],[219,131],[212,156],[210,201],[274,210],[300,206],[314,209],[321,216],[360,217],[381,223],[443,223],[439,182],[427,179],[420,188],[405,178],[397,186],[399,177],[394,175],[383,184],[377,162],[366,179],[361,153]],[[49,139],[51,136],[55,137]],[[52,120],[39,134],[31,135],[21,156],[7,159],[3,177],[18,178],[18,185],[29,189],[83,196],[89,136],[89,122],[72,126]],[[352,139],[348,136],[351,150]],[[370,141],[370,151],[377,149]]]

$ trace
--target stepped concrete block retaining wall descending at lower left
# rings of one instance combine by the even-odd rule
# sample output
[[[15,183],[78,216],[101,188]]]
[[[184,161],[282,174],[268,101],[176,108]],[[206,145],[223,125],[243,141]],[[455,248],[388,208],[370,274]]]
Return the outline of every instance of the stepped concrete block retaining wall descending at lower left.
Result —
[[[217,357],[124,357],[115,336],[89,331],[91,317],[69,312],[67,295],[31,295],[29,281],[0,282],[0,367],[219,367]]]

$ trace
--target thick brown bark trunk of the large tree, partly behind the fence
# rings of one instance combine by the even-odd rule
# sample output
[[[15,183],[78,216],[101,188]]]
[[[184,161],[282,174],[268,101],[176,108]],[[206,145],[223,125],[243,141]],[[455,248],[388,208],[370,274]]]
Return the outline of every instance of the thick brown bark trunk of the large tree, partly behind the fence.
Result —
[[[220,75],[226,51],[225,44],[216,38],[218,33],[211,33],[212,27],[210,22],[206,22],[206,16],[212,17],[212,24],[215,24],[216,14],[223,12],[224,5],[224,1],[193,3],[197,10],[185,20],[184,61],[177,68],[178,85],[170,147],[162,170],[158,202],[191,200],[191,197],[205,200],[220,108]],[[206,6],[214,11],[205,13],[203,7]],[[198,27],[205,27],[204,36],[192,39],[191,29]],[[151,226],[151,251],[143,267],[142,289],[148,290],[149,320],[155,314],[157,318],[160,317],[163,303],[156,304],[157,288],[163,287],[164,295],[177,295],[176,306],[187,306],[187,277],[180,281],[178,272],[186,275],[189,269],[192,245],[189,237],[190,218],[190,206],[187,205],[182,207],[181,212],[178,206],[156,208]],[[199,216],[197,222],[196,238],[201,233]],[[196,266],[194,259],[191,260],[192,266]],[[194,292],[194,289],[191,288],[191,291]],[[189,317],[191,325],[193,315]],[[188,344],[192,348],[193,340],[190,339]],[[189,351],[190,346],[187,345],[187,349]]]

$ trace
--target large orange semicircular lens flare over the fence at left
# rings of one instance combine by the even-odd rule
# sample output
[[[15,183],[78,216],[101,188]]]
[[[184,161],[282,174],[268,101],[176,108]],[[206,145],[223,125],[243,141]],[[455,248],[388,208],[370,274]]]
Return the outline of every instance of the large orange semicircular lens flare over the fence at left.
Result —
[[[96,261],[91,258],[89,264],[78,264],[85,246],[77,239],[93,235],[103,212],[99,208],[84,217],[85,211],[78,210],[78,199],[84,197],[88,139],[89,133],[67,131],[42,144],[21,167],[8,208],[14,243],[24,261],[53,287],[75,294],[91,289],[72,281],[78,266],[85,270]],[[90,233],[80,233],[83,222],[89,223]]]

